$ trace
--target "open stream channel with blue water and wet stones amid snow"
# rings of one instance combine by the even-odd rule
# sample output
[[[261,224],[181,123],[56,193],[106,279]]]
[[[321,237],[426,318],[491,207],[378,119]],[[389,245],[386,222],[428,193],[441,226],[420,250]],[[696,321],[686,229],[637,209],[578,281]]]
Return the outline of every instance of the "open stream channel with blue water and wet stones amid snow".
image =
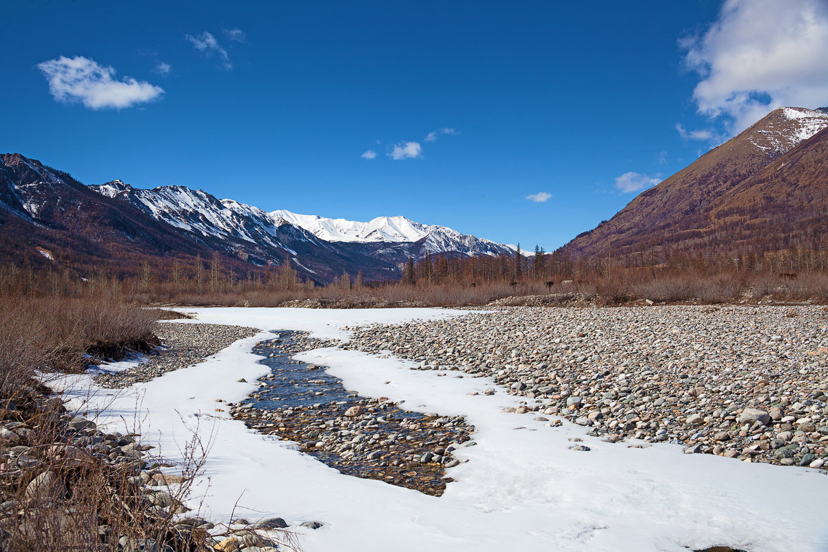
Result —
[[[258,343],[271,373],[261,390],[230,413],[250,428],[299,443],[302,450],[347,475],[378,479],[440,496],[460,463],[452,451],[473,444],[474,427],[462,416],[400,409],[388,398],[367,399],[344,389],[322,366],[291,360],[299,351],[335,346],[301,332],[279,332]]]

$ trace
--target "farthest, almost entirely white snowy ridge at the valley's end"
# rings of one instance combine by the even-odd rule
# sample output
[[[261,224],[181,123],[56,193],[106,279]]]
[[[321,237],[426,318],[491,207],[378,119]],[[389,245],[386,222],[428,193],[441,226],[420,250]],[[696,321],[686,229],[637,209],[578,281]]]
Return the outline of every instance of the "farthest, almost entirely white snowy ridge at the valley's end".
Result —
[[[425,239],[424,248],[431,253],[457,251],[468,255],[513,254],[508,245],[460,234],[440,225],[424,225],[404,216],[378,216],[368,222],[329,219],[319,215],[298,215],[291,211],[273,211],[272,215],[301,226],[326,241],[359,243],[404,243]]]

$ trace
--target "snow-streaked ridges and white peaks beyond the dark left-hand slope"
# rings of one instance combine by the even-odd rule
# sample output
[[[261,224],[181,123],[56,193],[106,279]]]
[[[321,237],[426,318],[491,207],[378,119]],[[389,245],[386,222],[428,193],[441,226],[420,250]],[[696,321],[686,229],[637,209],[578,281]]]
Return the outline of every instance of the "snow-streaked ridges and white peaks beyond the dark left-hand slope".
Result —
[[[404,216],[380,216],[370,222],[359,222],[298,215],[284,210],[268,213],[238,201],[219,200],[204,190],[191,190],[185,186],[159,186],[152,190],[142,190],[116,180],[89,187],[103,196],[130,201],[148,215],[176,228],[219,239],[233,238],[271,247],[285,247],[280,241],[279,230],[288,225],[295,229],[297,239],[320,247],[333,247],[333,244],[339,244],[340,248],[344,244],[410,245],[407,248],[393,248],[397,253],[392,254],[392,257],[401,254],[420,257],[426,251],[467,255],[514,253],[514,249],[508,245],[460,234],[445,226],[424,225]],[[382,252],[377,249],[375,256],[388,259],[388,249],[382,249]]]

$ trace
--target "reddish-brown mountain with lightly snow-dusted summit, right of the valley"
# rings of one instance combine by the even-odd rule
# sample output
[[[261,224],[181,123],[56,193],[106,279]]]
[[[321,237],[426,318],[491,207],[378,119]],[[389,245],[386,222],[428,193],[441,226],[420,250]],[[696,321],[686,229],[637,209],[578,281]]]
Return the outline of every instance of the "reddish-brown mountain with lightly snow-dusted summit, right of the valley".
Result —
[[[664,246],[760,254],[816,249],[826,238],[828,108],[781,108],[643,191],[561,251],[575,258]]]

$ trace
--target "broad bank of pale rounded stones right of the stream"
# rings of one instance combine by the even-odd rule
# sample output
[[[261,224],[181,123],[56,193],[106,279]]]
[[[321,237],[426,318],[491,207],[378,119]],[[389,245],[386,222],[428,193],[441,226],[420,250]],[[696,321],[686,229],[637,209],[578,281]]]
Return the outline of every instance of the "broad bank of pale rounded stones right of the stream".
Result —
[[[361,327],[344,347],[490,376],[525,397],[517,414],[561,416],[609,442],[828,462],[823,307],[499,308]]]

